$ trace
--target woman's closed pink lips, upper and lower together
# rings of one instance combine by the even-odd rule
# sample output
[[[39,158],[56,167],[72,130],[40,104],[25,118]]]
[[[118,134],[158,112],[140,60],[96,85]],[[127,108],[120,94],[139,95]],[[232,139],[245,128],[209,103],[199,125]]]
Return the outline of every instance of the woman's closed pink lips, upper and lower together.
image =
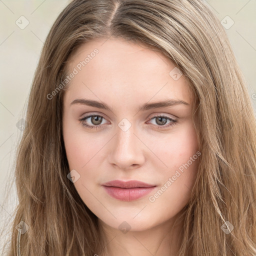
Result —
[[[156,185],[138,180],[112,180],[102,184],[106,192],[115,199],[131,201],[148,194]]]

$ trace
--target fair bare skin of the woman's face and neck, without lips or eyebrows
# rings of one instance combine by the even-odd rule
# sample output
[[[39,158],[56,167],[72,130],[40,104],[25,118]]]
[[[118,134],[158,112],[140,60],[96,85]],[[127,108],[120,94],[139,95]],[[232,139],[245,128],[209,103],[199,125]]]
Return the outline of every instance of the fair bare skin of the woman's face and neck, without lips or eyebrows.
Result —
[[[99,52],[71,79],[63,98],[67,160],[70,171],[75,169],[80,175],[73,184],[111,241],[106,246],[109,255],[176,255],[182,221],[172,226],[191,196],[198,158],[153,202],[149,196],[198,151],[193,95],[184,75],[177,80],[169,75],[175,65],[167,57],[119,38],[92,40],[80,46],[68,62],[70,72],[94,48]],[[77,98],[104,102],[111,111],[70,105]],[[137,111],[144,103],[167,98],[189,105]],[[89,117],[83,123],[99,128],[84,127],[79,121],[89,114],[102,116],[102,121]],[[153,118],[159,114],[177,122],[167,127],[170,120]],[[118,126],[123,118],[131,124],[126,131]],[[135,179],[156,187],[139,199],[122,201],[108,195],[101,185],[114,179]],[[126,233],[118,228],[123,221],[130,226]]]

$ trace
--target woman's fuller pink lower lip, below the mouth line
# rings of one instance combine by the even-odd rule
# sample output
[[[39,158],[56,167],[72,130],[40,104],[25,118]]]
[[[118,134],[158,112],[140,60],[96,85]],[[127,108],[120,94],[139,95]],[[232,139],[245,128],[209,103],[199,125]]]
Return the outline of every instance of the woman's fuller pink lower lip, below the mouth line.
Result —
[[[136,200],[148,193],[150,193],[155,186],[152,187],[133,187],[133,188],[120,188],[115,186],[103,186],[106,192],[121,201]]]

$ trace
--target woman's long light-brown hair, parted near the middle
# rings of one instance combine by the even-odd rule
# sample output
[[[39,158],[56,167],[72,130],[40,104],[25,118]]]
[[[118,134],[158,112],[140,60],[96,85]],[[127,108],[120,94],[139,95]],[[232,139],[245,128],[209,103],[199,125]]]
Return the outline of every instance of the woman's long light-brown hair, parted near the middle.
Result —
[[[97,217],[67,178],[60,84],[72,52],[109,36],[166,55],[195,95],[201,156],[179,255],[255,256],[255,117],[225,30],[202,0],[73,0],[59,14],[43,45],[17,150],[19,203],[8,255],[88,256],[105,246]],[[17,248],[20,221],[29,229]]]

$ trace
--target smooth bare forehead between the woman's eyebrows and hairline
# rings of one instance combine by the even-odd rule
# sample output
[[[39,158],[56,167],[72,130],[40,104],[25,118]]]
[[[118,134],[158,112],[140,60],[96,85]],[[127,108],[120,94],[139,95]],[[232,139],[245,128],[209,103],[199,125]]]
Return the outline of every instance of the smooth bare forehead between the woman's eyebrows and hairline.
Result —
[[[67,67],[68,73],[77,71],[66,91],[73,97],[87,98],[89,94],[94,99],[116,101],[118,95],[124,103],[128,99],[144,102],[168,96],[191,102],[184,75],[174,79],[175,65],[159,51],[142,44],[119,38],[91,40],[75,51]]]

